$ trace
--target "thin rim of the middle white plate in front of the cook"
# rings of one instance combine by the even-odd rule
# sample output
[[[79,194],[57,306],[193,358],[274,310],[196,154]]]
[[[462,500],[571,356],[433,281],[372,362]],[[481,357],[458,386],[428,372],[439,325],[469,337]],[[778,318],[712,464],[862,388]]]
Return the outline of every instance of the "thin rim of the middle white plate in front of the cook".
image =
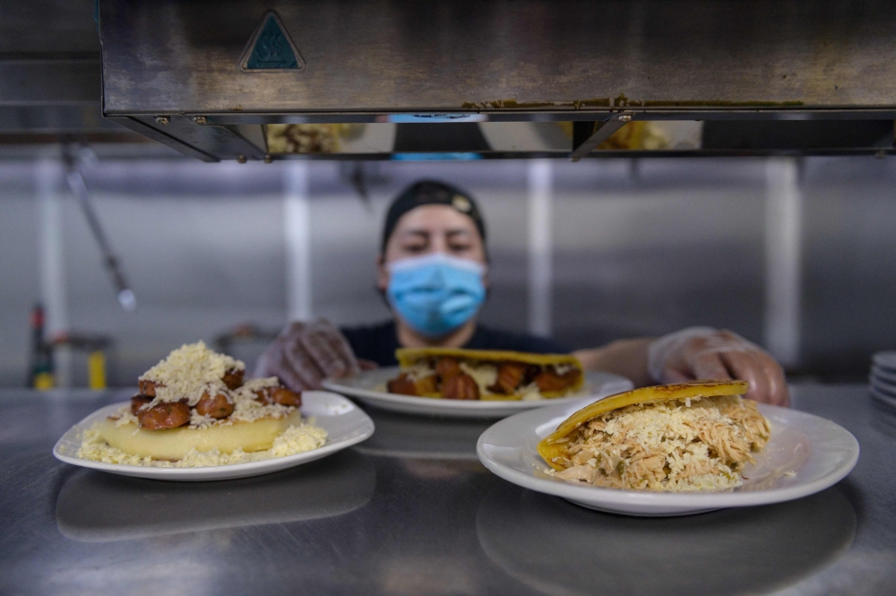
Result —
[[[381,367],[376,368],[376,371],[384,371],[387,369],[394,368],[395,371],[399,371],[400,367]],[[363,371],[361,375],[364,375],[367,372],[372,371]],[[587,376],[590,372],[598,372],[601,375],[609,375],[616,378],[608,379],[607,383],[624,383],[627,382],[631,384],[631,387],[628,389],[622,389],[621,391],[629,391],[629,389],[634,388],[634,384],[631,379],[626,378],[622,375],[616,375],[615,373],[608,373],[606,371],[585,371],[585,375]],[[357,397],[360,400],[370,400],[373,405],[376,405],[376,402],[383,402],[389,404],[401,404],[406,405],[411,408],[417,408],[418,406],[422,406],[423,409],[429,409],[431,407],[434,410],[434,413],[451,413],[451,412],[480,412],[482,410],[500,410],[506,411],[508,413],[515,413],[525,410],[533,410],[537,408],[544,408],[547,406],[559,405],[559,404],[569,404],[573,402],[577,402],[579,400],[587,400],[593,399],[593,395],[571,395],[569,397],[557,397],[553,399],[546,400],[513,400],[513,401],[503,401],[503,400],[444,400],[438,398],[430,398],[430,397],[417,397],[414,395],[400,395],[398,393],[384,393],[379,391],[372,391],[369,389],[362,389],[360,387],[352,387],[350,385],[340,384],[340,380],[343,379],[332,379],[326,378],[322,382],[322,386],[324,389],[328,391],[332,391],[334,393],[342,393],[348,394],[352,397]],[[602,398],[601,398],[602,399]]]

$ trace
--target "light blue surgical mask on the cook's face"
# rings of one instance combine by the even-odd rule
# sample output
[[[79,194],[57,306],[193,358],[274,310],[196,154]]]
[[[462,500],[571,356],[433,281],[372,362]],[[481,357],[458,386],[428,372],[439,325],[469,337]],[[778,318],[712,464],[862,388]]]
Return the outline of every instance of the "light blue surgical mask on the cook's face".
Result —
[[[438,337],[476,315],[486,299],[485,265],[434,253],[386,264],[386,296],[395,312],[418,333]]]

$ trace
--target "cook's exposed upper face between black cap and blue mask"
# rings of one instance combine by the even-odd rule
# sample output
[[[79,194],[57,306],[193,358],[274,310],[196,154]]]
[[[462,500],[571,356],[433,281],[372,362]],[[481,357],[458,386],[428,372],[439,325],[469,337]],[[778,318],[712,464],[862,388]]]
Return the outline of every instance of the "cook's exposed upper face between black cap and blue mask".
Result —
[[[385,289],[389,283],[385,263],[430,253],[486,264],[486,246],[473,220],[448,205],[423,205],[402,215],[395,224],[385,253],[377,259],[377,285]]]

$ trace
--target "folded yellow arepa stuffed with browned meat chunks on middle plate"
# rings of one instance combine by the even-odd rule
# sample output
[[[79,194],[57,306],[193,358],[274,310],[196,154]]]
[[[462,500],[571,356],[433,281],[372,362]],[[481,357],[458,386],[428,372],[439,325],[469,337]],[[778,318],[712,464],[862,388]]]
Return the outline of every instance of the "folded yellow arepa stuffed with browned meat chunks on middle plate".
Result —
[[[542,400],[582,389],[582,363],[569,354],[457,348],[395,350],[401,374],[389,393],[448,400]]]

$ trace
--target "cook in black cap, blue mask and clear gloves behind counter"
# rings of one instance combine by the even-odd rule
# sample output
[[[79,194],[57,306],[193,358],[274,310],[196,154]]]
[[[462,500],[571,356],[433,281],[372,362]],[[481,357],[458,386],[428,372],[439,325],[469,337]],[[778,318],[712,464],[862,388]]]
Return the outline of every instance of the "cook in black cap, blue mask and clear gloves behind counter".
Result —
[[[255,376],[279,376],[295,391],[327,376],[396,364],[400,347],[566,353],[556,341],[479,324],[487,298],[486,224],[476,201],[436,181],[409,186],[393,202],[376,257],[376,287],[392,320],[337,328],[326,320],[289,324],[264,351]],[[632,379],[636,386],[692,379],[740,379],[746,397],[788,405],[779,364],[729,331],[689,327],[659,338],[618,340],[573,354],[590,370]]]

